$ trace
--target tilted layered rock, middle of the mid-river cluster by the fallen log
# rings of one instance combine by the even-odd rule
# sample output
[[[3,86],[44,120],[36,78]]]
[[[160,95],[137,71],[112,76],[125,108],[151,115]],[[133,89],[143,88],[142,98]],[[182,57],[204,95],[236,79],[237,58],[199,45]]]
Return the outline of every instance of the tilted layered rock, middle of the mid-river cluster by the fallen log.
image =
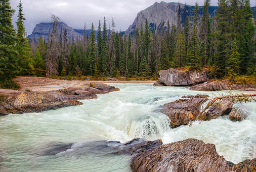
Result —
[[[228,115],[233,106],[233,101],[230,97],[220,100],[220,102],[215,102],[212,106],[208,108],[205,113],[208,120],[215,119],[222,115]]]

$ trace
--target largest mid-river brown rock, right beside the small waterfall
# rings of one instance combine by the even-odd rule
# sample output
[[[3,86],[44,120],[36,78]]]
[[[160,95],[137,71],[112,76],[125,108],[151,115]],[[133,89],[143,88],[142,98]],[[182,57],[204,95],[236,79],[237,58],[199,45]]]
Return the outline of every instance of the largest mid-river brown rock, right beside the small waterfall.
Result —
[[[179,99],[160,106],[162,108],[160,112],[171,119],[172,127],[187,125],[196,119],[205,120],[201,115],[201,106],[207,100],[208,98]]]

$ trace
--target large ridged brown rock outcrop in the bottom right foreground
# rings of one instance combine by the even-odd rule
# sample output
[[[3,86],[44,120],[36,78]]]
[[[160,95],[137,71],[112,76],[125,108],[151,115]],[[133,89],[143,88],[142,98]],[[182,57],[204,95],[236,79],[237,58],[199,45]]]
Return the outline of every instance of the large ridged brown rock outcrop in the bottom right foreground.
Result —
[[[256,158],[237,165],[218,155],[214,144],[196,139],[163,144],[131,161],[132,172],[251,172]]]

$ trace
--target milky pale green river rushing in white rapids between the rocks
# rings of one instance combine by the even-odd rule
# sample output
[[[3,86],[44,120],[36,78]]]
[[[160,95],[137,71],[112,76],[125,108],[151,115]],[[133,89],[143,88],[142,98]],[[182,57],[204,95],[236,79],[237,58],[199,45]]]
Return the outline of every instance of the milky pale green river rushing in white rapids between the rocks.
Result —
[[[240,122],[222,116],[171,129],[170,119],[158,111],[160,105],[183,95],[214,97],[229,91],[190,91],[188,87],[152,84],[109,85],[120,91],[82,100],[81,106],[0,117],[0,171],[130,172],[128,155],[105,155],[104,151],[78,154],[72,151],[74,146],[57,155],[35,153],[56,142],[79,146],[95,141],[124,143],[133,138],[162,139],[163,143],[195,138],[215,144],[217,153],[233,163],[256,157],[256,102],[234,104],[250,114]]]

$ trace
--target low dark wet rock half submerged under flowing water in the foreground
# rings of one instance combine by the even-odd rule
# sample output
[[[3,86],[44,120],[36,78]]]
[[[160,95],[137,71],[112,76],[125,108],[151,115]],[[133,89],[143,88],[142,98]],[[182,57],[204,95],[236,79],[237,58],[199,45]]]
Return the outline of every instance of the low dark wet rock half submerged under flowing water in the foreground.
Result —
[[[129,154],[134,155],[162,145],[161,140],[146,141],[144,139],[133,139],[127,143],[116,141],[96,141],[87,143],[50,143],[36,148],[38,155],[64,155],[79,156],[88,153],[95,154]],[[68,150],[68,151],[67,151]]]

